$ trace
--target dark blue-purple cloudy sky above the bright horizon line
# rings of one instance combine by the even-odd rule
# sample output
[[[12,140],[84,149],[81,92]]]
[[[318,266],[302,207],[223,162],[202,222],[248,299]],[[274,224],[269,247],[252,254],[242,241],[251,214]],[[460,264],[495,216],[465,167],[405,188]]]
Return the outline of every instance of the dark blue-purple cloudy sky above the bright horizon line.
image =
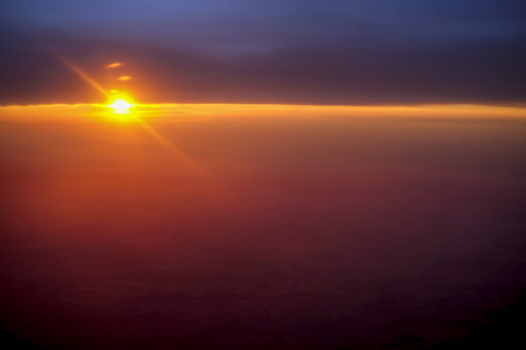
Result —
[[[145,102],[526,103],[521,0],[0,0],[0,23],[2,105],[100,101],[64,58]]]

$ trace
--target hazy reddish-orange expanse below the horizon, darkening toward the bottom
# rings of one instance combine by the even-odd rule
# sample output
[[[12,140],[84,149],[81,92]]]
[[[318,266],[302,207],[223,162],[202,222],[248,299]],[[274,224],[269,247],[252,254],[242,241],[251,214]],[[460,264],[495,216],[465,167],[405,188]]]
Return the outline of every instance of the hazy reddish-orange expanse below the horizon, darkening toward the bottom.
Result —
[[[499,315],[526,290],[525,109],[136,108],[0,107],[8,335],[108,350],[524,339]]]

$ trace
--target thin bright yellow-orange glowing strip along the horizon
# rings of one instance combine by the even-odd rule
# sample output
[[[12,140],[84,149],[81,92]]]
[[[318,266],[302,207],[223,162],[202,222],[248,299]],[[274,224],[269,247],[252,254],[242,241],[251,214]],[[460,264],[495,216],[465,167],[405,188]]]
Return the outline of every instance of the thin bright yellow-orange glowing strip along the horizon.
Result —
[[[526,118],[525,107],[494,105],[393,105],[393,106],[342,106],[342,105],[287,105],[287,104],[191,104],[191,103],[133,103],[137,115],[169,117],[173,116],[251,116],[282,117],[289,115],[320,116],[330,115],[347,117],[434,117],[434,118]],[[112,113],[107,104],[39,104],[0,106],[0,118],[10,112],[53,113],[82,112],[84,114]]]

